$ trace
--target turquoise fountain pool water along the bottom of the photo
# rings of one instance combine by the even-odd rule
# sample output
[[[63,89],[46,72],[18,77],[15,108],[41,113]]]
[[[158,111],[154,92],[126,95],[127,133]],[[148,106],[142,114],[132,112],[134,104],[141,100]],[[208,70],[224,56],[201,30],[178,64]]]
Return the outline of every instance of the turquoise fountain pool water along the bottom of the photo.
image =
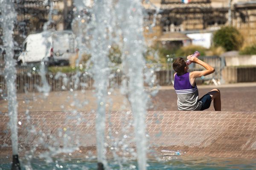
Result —
[[[2,160],[2,161],[1,161]],[[0,159],[0,170],[10,170],[11,161],[9,159]],[[3,163],[5,162],[5,163]],[[20,160],[22,170],[30,170],[28,162]],[[96,160],[79,159],[55,159],[52,163],[46,163],[41,159],[32,159],[30,164],[33,170],[96,170]],[[137,170],[136,161],[118,164],[114,161],[108,161],[111,170]],[[212,157],[188,157],[178,156],[169,158],[160,158],[149,160],[148,170],[256,170],[255,159],[228,159]]]

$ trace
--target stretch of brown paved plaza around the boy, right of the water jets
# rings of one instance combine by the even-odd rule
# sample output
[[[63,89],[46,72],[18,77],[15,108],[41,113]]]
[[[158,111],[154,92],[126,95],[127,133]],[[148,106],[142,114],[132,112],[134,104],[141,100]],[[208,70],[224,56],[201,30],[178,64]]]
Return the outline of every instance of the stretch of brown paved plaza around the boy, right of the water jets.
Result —
[[[213,88],[221,91],[221,111],[256,111],[256,84],[247,86],[198,86],[199,97]],[[177,95],[172,87],[162,88],[153,97],[150,111],[177,111]],[[214,111],[213,102],[207,111]]]

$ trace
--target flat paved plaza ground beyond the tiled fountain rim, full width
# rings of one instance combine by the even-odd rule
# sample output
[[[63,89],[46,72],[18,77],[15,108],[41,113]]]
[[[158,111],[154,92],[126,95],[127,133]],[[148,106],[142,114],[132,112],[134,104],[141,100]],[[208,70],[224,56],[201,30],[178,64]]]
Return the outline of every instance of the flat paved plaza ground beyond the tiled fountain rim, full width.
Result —
[[[198,85],[199,97],[213,88],[221,91],[222,111],[256,111],[256,83],[227,85]],[[131,107],[119,89],[110,90],[106,102],[108,111],[127,111]],[[96,97],[93,90],[51,92],[45,97],[42,93],[17,94],[18,111],[96,111]],[[0,100],[0,111],[7,112],[7,101]],[[177,95],[172,86],[162,86],[151,99],[149,111],[177,111]],[[213,103],[207,111],[214,111]]]

